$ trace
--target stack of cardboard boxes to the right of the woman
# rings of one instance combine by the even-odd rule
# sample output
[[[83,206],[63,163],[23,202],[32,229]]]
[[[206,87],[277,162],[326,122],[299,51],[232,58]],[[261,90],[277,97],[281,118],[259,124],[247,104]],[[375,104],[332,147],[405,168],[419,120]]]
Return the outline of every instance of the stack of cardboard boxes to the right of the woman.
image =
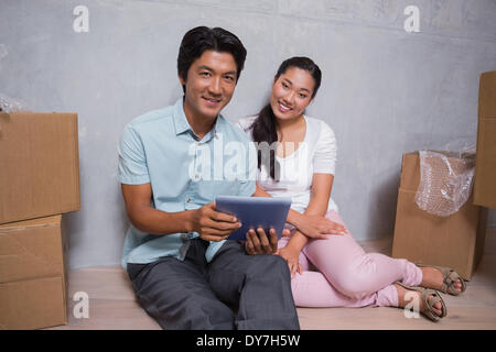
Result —
[[[459,161],[451,157],[450,163]],[[496,208],[496,72],[481,76],[474,191],[450,217],[436,217],[414,202],[420,183],[418,153],[403,155],[392,256],[453,267],[471,279],[482,254],[487,208]]]

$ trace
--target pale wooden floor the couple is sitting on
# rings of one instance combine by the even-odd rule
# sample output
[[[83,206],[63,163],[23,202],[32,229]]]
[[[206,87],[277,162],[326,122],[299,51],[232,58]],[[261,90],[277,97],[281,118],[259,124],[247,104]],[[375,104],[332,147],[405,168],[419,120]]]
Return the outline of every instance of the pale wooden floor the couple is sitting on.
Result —
[[[367,252],[390,254],[392,239],[362,242]],[[89,318],[76,319],[74,294],[89,296]],[[496,228],[487,231],[483,258],[459,297],[443,295],[448,317],[434,323],[424,317],[406,318],[402,309],[298,308],[302,329],[496,329]],[[94,267],[69,273],[68,324],[52,329],[160,329],[137,304],[127,274],[120,267]]]

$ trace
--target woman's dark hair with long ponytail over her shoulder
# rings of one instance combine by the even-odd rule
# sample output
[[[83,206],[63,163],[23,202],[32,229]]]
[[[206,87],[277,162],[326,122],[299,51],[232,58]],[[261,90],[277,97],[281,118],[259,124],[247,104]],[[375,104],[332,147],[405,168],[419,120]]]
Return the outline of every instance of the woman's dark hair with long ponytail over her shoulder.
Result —
[[[279,66],[278,73],[276,74],[274,81],[284,74],[288,68],[298,67],[300,69],[306,70],[314,80],[314,87],[312,92],[312,98],[315,97],[319,87],[321,86],[322,73],[319,66],[309,57],[295,56],[288,58],[282,62],[281,66]],[[265,106],[260,112],[258,113],[257,119],[255,119],[251,124],[251,136],[254,142],[262,143],[267,142],[269,145],[272,145],[273,142],[278,141],[277,133],[277,124],[276,124],[276,116],[273,114],[272,108],[270,107],[270,102]],[[258,148],[258,168],[261,167],[262,161],[267,161],[263,158],[262,150]],[[276,150],[270,148],[269,155],[269,165],[270,165],[270,177],[274,180],[279,180],[279,175],[276,174]],[[279,167],[278,167],[279,168]]]

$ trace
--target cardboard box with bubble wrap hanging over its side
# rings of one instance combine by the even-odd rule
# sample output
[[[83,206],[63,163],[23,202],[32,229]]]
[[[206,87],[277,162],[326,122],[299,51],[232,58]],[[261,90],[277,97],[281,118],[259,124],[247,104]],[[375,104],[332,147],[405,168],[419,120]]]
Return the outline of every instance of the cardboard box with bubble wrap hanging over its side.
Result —
[[[414,201],[419,183],[419,154],[407,153],[402,160],[392,256],[453,267],[463,278],[471,279],[484,251],[487,209],[474,206],[472,195],[450,217],[430,215]]]

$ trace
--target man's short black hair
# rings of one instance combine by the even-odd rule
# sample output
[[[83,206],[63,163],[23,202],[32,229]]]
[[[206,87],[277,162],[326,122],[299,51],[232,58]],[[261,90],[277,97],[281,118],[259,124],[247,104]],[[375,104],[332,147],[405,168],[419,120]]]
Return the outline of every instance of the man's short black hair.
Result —
[[[220,28],[197,26],[184,34],[177,55],[179,76],[187,80],[187,70],[205,51],[231,54],[237,66],[238,81],[245,66],[246,48],[236,35]],[[184,86],[183,91],[186,91]]]

